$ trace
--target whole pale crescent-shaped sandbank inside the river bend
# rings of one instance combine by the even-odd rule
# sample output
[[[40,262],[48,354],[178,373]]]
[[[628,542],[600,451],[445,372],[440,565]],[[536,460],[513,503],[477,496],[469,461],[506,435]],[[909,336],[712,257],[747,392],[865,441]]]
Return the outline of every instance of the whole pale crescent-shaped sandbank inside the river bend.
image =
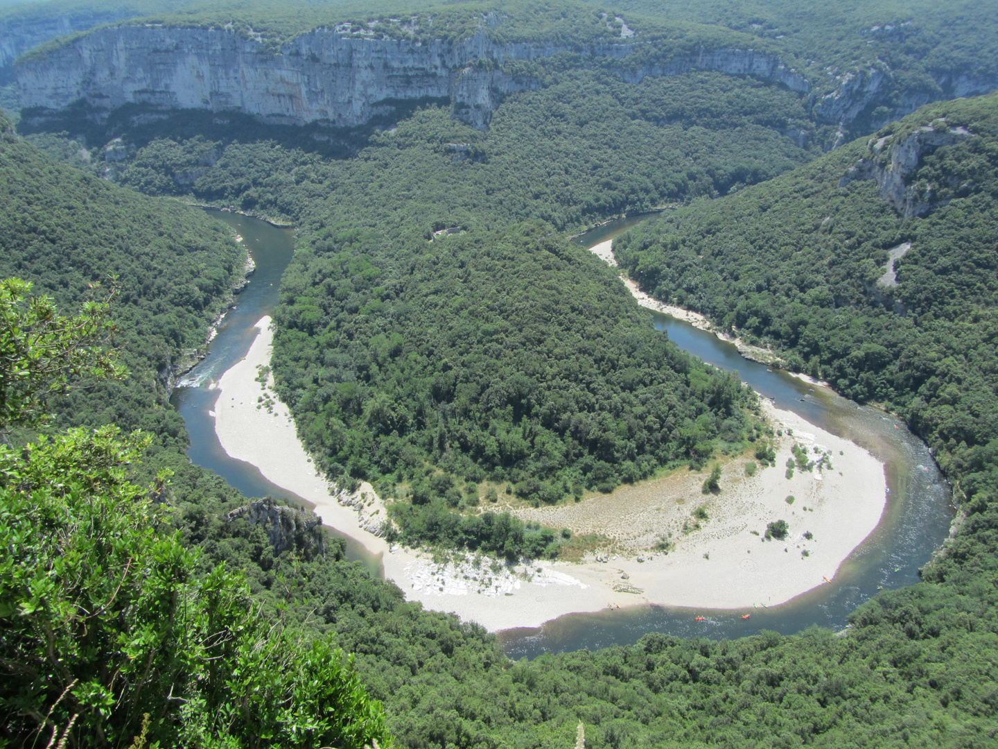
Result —
[[[885,505],[883,466],[872,455],[789,411],[767,406],[773,426],[784,429],[777,467],[748,477],[746,459],[731,460],[718,495],[701,492],[703,473],[683,470],[609,496],[518,510],[554,527],[612,536],[614,550],[601,554],[605,562],[509,566],[467,555],[437,564],[425,553],[389,547],[371,532],[384,507],[369,485],[356,496],[333,496],[315,474],[286,406],[268,403],[269,390],[260,381],[266,378],[259,377],[259,368],[270,360],[269,323],[269,318],[259,321],[260,333],[247,358],[218,383],[216,431],[223,448],[314,505],[325,524],[381,554],[385,577],[408,599],[489,630],[539,626],[567,613],[638,603],[710,608],[781,603],[833,578],[842,560],[876,527]],[[787,428],[793,437],[785,435]],[[828,454],[832,467],[798,470],[785,478],[783,464],[794,443],[812,459]],[[789,494],[793,504],[785,501]],[[692,514],[701,506],[706,520]],[[786,538],[761,540],[766,523],[778,519],[789,526]],[[803,535],[808,531],[810,539]],[[674,544],[670,552],[650,552],[661,538]]]

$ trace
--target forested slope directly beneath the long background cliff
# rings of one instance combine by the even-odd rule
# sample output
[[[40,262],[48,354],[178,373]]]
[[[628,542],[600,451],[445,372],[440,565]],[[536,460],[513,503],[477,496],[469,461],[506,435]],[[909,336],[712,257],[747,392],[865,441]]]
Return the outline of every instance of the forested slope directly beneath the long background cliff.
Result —
[[[83,136],[71,147],[52,133],[27,137],[141,192],[193,195],[296,223],[321,210],[392,233],[416,226],[426,239],[448,227],[524,220],[583,228],[663,202],[724,195],[820,153],[795,137],[805,128],[805,97],[776,85],[691,73],[634,86],[602,71],[545,61],[536,68],[545,88],[509,97],[487,133],[428,106],[386,132],[330,136],[235,115],[222,124],[198,112],[136,126],[136,112],[126,109],[106,127],[60,124]],[[81,163],[86,143],[113,132],[122,142],[108,161],[95,149]],[[333,186],[348,210],[330,198]]]

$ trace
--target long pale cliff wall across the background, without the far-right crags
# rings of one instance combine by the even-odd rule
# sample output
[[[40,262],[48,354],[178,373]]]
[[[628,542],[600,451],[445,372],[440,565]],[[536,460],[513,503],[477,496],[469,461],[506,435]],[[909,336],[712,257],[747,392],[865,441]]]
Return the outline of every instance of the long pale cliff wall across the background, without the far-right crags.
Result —
[[[623,60],[639,47],[648,44],[591,45],[581,54]],[[420,44],[319,29],[270,54],[260,42],[222,29],[122,25],[18,65],[17,80],[26,108],[58,110],[83,100],[104,112],[132,103],[352,127],[390,114],[399,103],[429,98],[450,101],[456,117],[484,128],[505,94],[537,86],[503,72],[503,63],[568,51],[554,44],[497,44],[484,33],[455,44]],[[777,57],[752,50],[701,50],[668,63],[627,67],[620,72],[633,83],[648,75],[712,70],[808,90]]]

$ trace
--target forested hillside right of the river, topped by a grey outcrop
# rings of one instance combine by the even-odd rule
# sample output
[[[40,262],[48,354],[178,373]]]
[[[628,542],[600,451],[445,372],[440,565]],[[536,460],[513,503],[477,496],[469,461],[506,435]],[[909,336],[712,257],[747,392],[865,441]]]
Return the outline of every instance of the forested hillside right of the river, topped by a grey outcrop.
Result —
[[[994,480],[980,471],[998,436],[996,147],[998,97],[933,105],[764,185],[670,212],[615,252],[659,299],[897,410],[969,498]],[[904,171],[897,154],[912,149],[921,158]]]

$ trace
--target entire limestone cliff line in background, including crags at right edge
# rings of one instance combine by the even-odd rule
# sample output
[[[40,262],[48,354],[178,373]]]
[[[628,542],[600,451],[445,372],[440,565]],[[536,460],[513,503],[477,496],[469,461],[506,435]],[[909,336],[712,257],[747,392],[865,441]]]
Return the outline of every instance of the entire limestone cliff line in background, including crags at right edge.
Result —
[[[138,104],[154,110],[241,112],[271,123],[353,127],[378,116],[391,118],[401,105],[437,100],[449,101],[455,117],[481,129],[505,95],[539,85],[511,74],[508,63],[559,53],[577,55],[580,65],[614,70],[632,83],[704,70],[811,91],[812,82],[772,52],[722,46],[667,54],[655,41],[628,32],[570,45],[498,43],[484,26],[456,42],[358,37],[333,27],[303,33],[275,53],[260,35],[241,35],[229,27],[122,24],[29,56],[17,66],[17,85],[23,107],[60,110],[82,100],[98,118]],[[881,61],[830,78],[820,75],[825,77],[815,87],[827,93],[811,96],[811,113],[818,121],[843,126],[841,142],[855,121],[869,132],[931,101],[998,87],[998,81],[948,70],[907,90]]]

